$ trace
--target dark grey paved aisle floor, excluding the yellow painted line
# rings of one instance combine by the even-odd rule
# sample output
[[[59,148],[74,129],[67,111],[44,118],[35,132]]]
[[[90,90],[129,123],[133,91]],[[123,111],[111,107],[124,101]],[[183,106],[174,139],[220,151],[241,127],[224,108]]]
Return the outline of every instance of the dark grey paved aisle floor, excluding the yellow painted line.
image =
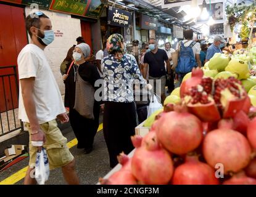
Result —
[[[70,142],[75,139],[75,135],[73,134],[71,127],[68,128],[68,130],[70,130],[70,132],[64,136],[67,137],[68,142]],[[70,150],[76,159],[76,171],[78,172],[81,184],[96,184],[99,177],[104,177],[104,175],[110,171],[109,155],[107,153],[107,147],[102,131],[97,132],[94,142],[94,150],[89,155],[84,155],[83,150],[77,149],[76,146],[72,147]],[[0,183],[2,180],[10,177],[10,175],[20,171],[20,169],[23,169],[23,167],[26,167],[27,165],[28,158],[23,159],[23,161],[20,161],[20,163],[15,164],[6,171],[0,172]],[[23,179],[15,184],[23,184]],[[46,184],[65,184],[61,169],[54,169],[51,171],[49,181]]]

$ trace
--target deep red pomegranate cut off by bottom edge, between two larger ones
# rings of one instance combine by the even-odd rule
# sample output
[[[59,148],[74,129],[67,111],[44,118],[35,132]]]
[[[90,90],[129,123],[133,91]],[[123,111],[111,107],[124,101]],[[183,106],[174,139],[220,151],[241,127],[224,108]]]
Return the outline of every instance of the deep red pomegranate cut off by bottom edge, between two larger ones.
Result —
[[[173,185],[218,185],[215,172],[198,156],[186,156],[186,162],[178,166],[173,174]]]

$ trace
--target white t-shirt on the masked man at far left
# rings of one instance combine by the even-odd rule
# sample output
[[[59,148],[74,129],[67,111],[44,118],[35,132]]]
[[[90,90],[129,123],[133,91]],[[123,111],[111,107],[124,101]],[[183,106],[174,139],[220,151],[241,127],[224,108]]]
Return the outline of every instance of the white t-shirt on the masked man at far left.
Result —
[[[52,121],[56,119],[57,115],[65,113],[66,110],[59,87],[42,49],[35,44],[25,46],[18,56],[18,69],[19,79],[35,77],[33,98],[39,124]],[[23,103],[21,86],[19,119],[29,123]]]

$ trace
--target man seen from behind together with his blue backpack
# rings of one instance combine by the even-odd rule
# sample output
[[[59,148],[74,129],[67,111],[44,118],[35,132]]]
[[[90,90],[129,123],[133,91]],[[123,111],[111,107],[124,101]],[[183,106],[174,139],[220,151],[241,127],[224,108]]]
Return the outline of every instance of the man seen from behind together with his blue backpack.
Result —
[[[200,61],[200,43],[193,41],[193,30],[184,30],[184,40],[178,42],[176,45],[176,52],[178,52],[178,65],[175,68],[178,73],[180,83],[184,76],[192,71],[194,67],[201,67]]]

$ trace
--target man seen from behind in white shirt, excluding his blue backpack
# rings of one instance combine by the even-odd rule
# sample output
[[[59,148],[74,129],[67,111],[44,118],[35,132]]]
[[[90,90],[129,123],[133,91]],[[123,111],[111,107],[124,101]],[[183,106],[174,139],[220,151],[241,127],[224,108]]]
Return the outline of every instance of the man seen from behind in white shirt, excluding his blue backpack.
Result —
[[[199,42],[195,42],[193,41],[193,33],[194,31],[189,29],[189,30],[184,30],[183,31],[183,35],[184,35],[184,40],[181,41],[184,44],[184,47],[192,47],[192,51],[194,54],[194,60],[195,60],[195,65],[194,66],[198,66],[199,68],[201,67],[202,63],[200,61],[200,51],[201,51],[201,47],[200,47],[200,43]],[[176,51],[178,52],[179,55],[181,55],[181,43],[178,42],[178,44],[176,45]],[[174,69],[174,68],[173,68]],[[192,68],[191,68],[192,71]],[[178,73],[180,82],[182,81],[183,77],[189,73],[190,71],[186,72],[186,73]]]

